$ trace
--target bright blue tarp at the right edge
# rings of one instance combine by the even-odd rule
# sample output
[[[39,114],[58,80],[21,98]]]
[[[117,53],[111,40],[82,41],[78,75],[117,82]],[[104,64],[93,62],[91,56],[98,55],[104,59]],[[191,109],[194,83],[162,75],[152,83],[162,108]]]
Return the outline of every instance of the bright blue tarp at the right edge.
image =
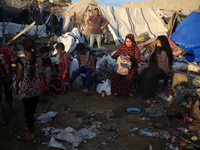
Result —
[[[200,13],[191,12],[170,36],[178,46],[188,52],[189,62],[200,60]]]

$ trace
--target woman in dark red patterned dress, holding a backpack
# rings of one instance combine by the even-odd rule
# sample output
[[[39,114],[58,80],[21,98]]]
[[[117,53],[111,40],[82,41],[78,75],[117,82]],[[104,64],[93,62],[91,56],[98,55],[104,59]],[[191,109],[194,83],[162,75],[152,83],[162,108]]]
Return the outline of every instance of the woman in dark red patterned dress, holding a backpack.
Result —
[[[126,35],[125,42],[114,54],[114,59],[117,59],[122,54],[132,61],[131,70],[126,76],[119,75],[115,72],[112,73],[111,92],[114,95],[126,97],[130,95],[130,89],[137,74],[137,64],[140,62],[140,51],[132,34]]]

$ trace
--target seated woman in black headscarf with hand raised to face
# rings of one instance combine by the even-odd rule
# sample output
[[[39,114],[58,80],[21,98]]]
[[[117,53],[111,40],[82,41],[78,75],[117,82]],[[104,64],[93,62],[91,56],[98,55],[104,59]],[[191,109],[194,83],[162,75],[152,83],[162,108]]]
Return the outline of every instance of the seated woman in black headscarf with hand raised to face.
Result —
[[[160,79],[164,79],[164,85],[167,85],[172,60],[172,50],[167,37],[158,36],[148,63],[138,69],[138,92],[143,98],[154,95]]]

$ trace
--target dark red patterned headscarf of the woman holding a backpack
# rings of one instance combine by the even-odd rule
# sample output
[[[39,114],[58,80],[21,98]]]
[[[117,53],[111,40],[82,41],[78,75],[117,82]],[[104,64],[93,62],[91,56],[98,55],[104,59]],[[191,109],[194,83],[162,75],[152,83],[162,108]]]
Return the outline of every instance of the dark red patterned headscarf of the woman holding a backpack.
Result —
[[[127,47],[126,46],[126,39],[130,39],[132,41],[132,45],[130,47]],[[126,38],[125,38],[125,41],[124,41],[124,44],[122,44],[118,50],[116,51],[115,53],[115,56],[116,55],[121,55],[121,54],[128,54],[129,56],[132,56],[132,57],[136,57],[135,56],[135,53],[137,53],[139,51],[138,49],[138,46],[137,46],[137,43],[135,42],[135,38],[134,38],[134,35],[132,34],[127,34],[126,35]],[[139,62],[140,58],[136,58],[137,61]],[[138,60],[139,59],[139,60]]]

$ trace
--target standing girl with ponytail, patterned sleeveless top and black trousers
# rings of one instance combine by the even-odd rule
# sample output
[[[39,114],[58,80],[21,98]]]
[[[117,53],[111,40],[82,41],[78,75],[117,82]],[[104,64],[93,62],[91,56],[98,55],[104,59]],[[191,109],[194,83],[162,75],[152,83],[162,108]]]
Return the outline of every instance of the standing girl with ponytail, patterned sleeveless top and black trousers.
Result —
[[[42,60],[36,57],[36,44],[33,39],[24,39],[22,42],[23,53],[25,57],[21,57],[18,62],[18,71],[15,83],[15,93],[23,100],[26,124],[28,133],[26,138],[34,140],[34,113],[38,104],[39,94],[42,87],[42,76],[45,77]],[[21,89],[19,82],[21,81]]]

